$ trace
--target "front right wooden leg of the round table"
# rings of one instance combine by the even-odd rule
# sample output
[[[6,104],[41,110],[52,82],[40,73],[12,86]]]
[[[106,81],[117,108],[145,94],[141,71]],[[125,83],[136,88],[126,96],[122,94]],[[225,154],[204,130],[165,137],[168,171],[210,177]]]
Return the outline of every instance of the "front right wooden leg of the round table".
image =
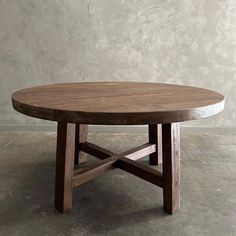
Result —
[[[164,210],[173,214],[180,208],[180,125],[162,125]]]

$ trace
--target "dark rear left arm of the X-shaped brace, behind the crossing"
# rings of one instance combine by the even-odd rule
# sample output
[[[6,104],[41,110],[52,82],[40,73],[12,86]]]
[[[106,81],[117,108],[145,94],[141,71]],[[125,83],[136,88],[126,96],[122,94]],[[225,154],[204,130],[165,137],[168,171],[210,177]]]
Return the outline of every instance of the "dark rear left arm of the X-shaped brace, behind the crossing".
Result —
[[[106,159],[110,156],[114,156],[115,154],[105,148],[99,147],[90,142],[84,142],[80,144],[80,150],[97,157],[101,160]]]

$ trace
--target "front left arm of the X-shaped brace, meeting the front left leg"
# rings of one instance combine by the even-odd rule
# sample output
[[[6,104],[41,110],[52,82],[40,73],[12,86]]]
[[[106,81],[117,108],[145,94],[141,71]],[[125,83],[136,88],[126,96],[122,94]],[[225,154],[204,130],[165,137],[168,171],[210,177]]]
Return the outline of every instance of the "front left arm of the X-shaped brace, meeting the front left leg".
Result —
[[[108,157],[97,164],[91,165],[83,170],[74,172],[73,186],[79,186],[90,180],[93,180],[100,175],[103,175],[109,170],[115,168],[117,157]]]

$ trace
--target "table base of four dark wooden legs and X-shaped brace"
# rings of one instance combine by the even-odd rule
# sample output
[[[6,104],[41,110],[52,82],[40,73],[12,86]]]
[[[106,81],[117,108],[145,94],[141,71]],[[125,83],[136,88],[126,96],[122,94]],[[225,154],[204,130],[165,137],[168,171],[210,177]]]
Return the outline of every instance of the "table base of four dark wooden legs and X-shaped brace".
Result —
[[[87,126],[58,123],[55,207],[60,212],[72,208],[72,191],[114,168],[120,168],[163,188],[164,210],[173,214],[180,208],[180,125],[179,123],[149,125],[149,142],[117,154],[86,141]],[[80,151],[101,161],[74,171]],[[150,164],[162,161],[162,173],[135,162],[149,155]],[[81,156],[80,156],[81,157]]]

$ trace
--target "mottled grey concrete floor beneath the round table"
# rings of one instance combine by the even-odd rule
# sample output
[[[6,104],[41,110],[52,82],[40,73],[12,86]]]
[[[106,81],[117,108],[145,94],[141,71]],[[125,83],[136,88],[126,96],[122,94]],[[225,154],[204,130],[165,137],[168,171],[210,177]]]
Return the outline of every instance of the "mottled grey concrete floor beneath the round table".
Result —
[[[92,134],[121,152],[144,134]],[[113,170],[54,209],[55,133],[0,132],[0,235],[236,235],[236,135],[182,135],[181,210],[162,210],[162,190]],[[94,161],[90,158],[90,161]],[[143,159],[142,162],[147,162]]]

